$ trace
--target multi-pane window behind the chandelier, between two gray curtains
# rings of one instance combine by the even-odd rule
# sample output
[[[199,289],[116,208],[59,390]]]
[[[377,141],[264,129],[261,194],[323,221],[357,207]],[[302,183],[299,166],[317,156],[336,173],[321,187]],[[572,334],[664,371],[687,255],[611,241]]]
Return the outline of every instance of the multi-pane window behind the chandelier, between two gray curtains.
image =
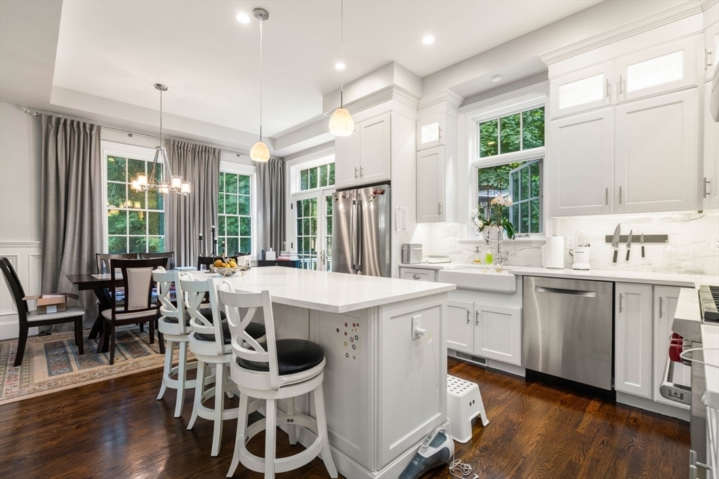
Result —
[[[107,251],[147,253],[165,251],[165,201],[157,190],[135,191],[130,183],[138,173],[148,176],[152,162],[108,155]],[[162,177],[157,164],[155,180]]]

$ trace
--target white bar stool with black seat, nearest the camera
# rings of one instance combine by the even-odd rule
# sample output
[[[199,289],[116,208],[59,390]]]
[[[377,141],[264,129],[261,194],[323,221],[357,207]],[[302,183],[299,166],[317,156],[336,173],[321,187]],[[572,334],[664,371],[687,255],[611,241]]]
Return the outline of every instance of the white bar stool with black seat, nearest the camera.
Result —
[[[223,282],[217,291],[219,302],[224,305],[227,324],[232,334],[233,360],[230,363],[232,381],[239,389],[239,414],[237,437],[234,443],[232,464],[227,472],[231,478],[242,465],[249,470],[265,473],[265,478],[274,478],[275,473],[285,473],[306,465],[322,455],[324,465],[331,478],[337,477],[327,437],[327,419],[324,411],[322,380],[324,379],[324,351],[316,343],[302,339],[275,339],[272,300],[270,292],[233,292]],[[266,345],[260,344],[247,332],[257,308],[262,308],[267,332]],[[266,348],[266,349],[265,349]],[[287,414],[277,414],[278,399],[293,399],[302,394],[312,393],[317,419],[295,414],[293,401],[288,401]],[[249,398],[265,399],[265,419],[247,427],[247,406]],[[289,457],[275,457],[278,424],[289,425],[290,431],[297,426],[306,427],[316,434],[316,440],[306,450]],[[265,457],[252,455],[246,443],[265,431]],[[290,433],[290,438],[296,432]]]

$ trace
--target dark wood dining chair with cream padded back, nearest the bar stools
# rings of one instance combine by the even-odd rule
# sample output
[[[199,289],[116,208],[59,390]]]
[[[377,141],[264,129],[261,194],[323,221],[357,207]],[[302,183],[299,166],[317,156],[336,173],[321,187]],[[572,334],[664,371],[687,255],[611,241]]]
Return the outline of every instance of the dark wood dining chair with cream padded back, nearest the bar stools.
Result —
[[[116,281],[118,272],[122,274],[124,304],[117,304],[115,292],[111,294],[112,307],[102,312],[105,318],[104,340],[110,344],[110,364],[115,362],[115,328],[122,325],[150,323],[150,344],[155,343],[155,322],[157,321],[157,303],[152,301],[152,288],[155,280],[152,271],[162,266],[165,258],[153,259],[112,259],[110,274]],[[162,351],[164,353],[164,351]]]

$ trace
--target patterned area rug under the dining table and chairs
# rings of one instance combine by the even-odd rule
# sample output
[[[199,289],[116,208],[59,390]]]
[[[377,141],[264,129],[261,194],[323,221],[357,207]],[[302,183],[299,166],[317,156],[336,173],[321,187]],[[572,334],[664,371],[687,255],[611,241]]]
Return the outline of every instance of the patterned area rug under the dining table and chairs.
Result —
[[[160,368],[165,361],[157,339],[150,344],[147,327],[140,331],[137,325],[117,328],[113,365],[110,353],[96,352],[96,339],[85,338],[84,348],[78,355],[73,332],[28,338],[22,365],[15,368],[17,340],[0,343],[0,405]],[[175,345],[173,364],[177,359]]]

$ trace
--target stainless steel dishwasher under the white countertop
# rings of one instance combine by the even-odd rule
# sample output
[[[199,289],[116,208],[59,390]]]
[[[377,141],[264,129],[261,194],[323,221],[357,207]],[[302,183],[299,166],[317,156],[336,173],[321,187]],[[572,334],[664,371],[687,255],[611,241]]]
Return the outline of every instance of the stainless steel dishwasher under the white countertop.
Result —
[[[525,276],[522,366],[612,389],[613,289],[611,282]]]

